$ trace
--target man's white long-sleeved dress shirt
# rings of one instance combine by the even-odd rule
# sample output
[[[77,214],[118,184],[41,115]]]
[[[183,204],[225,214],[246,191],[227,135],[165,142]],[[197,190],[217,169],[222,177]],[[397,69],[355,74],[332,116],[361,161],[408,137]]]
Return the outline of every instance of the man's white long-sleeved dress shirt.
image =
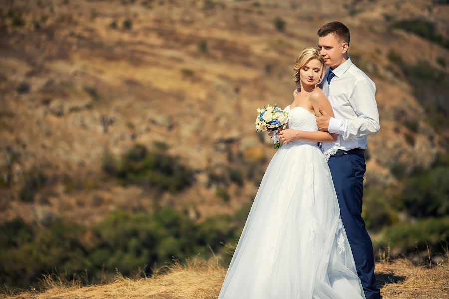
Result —
[[[379,131],[376,85],[350,58],[332,70],[335,76],[330,84],[329,71],[323,79],[335,115],[329,121],[329,132],[341,135],[338,149],[366,149],[367,135]]]

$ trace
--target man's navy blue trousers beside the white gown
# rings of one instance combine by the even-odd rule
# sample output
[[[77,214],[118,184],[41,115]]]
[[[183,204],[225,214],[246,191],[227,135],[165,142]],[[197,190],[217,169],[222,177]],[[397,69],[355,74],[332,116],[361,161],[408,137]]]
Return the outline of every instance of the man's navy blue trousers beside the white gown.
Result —
[[[379,299],[380,291],[376,288],[374,277],[373,244],[362,219],[365,157],[356,154],[333,156],[328,164],[340,205],[341,220],[366,299]]]

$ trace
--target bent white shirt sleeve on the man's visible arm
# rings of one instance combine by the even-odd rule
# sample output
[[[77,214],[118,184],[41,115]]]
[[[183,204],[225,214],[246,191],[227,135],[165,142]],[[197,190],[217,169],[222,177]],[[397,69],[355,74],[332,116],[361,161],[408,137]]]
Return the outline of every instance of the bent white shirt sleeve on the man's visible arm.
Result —
[[[349,102],[357,117],[355,119],[329,120],[329,132],[340,134],[344,140],[361,137],[379,131],[379,111],[375,99],[376,86],[366,78],[357,81]]]

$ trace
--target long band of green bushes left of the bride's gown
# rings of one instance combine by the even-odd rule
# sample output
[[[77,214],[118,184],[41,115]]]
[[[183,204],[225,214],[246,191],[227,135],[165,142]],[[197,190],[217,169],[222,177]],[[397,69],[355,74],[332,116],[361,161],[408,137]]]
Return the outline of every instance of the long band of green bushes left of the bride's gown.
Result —
[[[93,284],[112,279],[115,268],[127,276],[138,268],[151,274],[173,257],[208,257],[208,245],[225,253],[222,244],[238,240],[249,207],[199,224],[170,207],[153,214],[117,210],[89,229],[62,219],[48,229],[21,218],[6,221],[0,224],[0,283],[29,288],[41,274],[57,271],[67,279],[87,273],[83,283]]]

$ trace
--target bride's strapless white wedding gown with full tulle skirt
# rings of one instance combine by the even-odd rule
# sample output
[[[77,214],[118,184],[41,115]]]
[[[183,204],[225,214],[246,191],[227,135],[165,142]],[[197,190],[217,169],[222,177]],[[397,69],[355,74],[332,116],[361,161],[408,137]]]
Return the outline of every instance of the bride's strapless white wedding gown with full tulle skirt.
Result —
[[[288,117],[289,128],[318,130],[303,107]],[[315,142],[282,145],[260,183],[218,299],[353,298],[365,295],[327,159]]]

